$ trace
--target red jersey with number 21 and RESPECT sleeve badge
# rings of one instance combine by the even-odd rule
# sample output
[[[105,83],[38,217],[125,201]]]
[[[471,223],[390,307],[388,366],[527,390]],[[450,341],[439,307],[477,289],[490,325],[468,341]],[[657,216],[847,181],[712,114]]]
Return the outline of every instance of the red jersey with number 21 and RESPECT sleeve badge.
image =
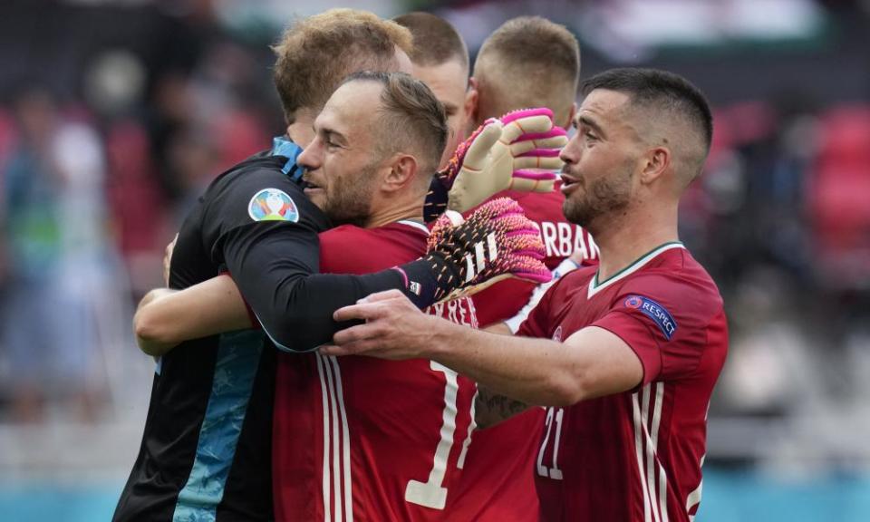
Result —
[[[553,285],[518,334],[565,340],[615,333],[643,363],[643,382],[549,408],[536,459],[544,520],[689,521],[701,501],[710,394],[725,362],[719,290],[680,243],[598,281],[595,267]]]

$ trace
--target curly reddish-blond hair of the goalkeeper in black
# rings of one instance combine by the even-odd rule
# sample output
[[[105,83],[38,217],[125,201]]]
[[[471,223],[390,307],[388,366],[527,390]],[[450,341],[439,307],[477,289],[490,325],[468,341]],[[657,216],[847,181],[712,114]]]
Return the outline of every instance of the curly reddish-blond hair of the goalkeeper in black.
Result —
[[[287,122],[300,109],[323,109],[351,73],[397,70],[396,48],[410,54],[412,42],[408,29],[355,9],[330,9],[291,25],[273,47],[273,78]]]

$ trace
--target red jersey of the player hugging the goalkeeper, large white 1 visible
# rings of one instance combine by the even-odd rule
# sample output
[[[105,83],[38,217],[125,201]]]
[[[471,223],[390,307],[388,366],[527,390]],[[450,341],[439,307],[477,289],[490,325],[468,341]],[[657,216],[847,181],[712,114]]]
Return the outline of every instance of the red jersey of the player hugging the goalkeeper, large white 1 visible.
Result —
[[[320,235],[323,273],[423,255],[412,222]],[[470,299],[432,307],[476,327]],[[471,437],[472,382],[438,363],[278,354],[273,477],[278,520],[440,520]]]

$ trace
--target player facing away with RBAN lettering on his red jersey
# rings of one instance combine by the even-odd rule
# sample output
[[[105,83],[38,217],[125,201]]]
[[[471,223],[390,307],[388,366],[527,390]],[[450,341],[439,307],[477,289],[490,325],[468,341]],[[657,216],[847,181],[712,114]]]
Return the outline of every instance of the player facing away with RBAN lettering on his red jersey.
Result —
[[[539,16],[508,20],[480,47],[471,79],[477,91],[472,113],[475,127],[488,118],[527,107],[546,107],[562,127],[573,121],[580,46],[563,25]],[[546,79],[543,81],[542,79]],[[528,218],[541,229],[546,265],[554,269],[575,251],[578,258],[596,259],[593,238],[582,227],[568,223],[562,214],[565,196],[559,190],[519,192],[506,190],[494,198],[516,199]],[[505,321],[527,303],[532,285],[507,281],[475,295],[481,326]]]

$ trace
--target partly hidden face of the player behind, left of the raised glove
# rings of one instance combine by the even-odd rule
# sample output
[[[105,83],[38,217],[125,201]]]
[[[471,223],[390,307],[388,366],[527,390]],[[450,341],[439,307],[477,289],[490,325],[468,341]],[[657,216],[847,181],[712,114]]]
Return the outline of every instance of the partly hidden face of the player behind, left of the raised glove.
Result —
[[[449,60],[440,65],[415,65],[414,77],[430,88],[447,111],[448,136],[439,164],[441,169],[447,165],[459,142],[465,140],[465,127],[468,124],[465,107],[468,74],[459,60]]]

